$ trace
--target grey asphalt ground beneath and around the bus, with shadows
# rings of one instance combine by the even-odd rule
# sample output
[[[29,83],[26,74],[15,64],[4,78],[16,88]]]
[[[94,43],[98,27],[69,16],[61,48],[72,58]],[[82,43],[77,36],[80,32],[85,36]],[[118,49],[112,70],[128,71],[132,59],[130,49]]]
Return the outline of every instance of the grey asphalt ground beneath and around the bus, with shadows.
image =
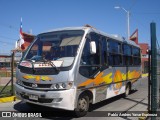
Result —
[[[47,119],[64,119],[64,120],[138,120],[137,117],[116,116],[113,113],[142,113],[147,111],[148,106],[148,80],[147,78],[141,78],[137,86],[137,90],[131,92],[131,94],[124,98],[123,95],[116,96],[114,98],[102,101],[100,103],[91,106],[88,116],[76,118],[71,111],[57,110],[48,107],[34,106],[31,108],[22,101],[16,101],[13,103],[0,103],[0,111],[18,111],[22,113],[38,112],[44,110],[47,112],[42,113],[42,118],[23,118],[29,120],[47,120]],[[52,112],[51,112],[52,111]],[[137,112],[139,111],[139,112]],[[112,114],[112,117],[108,117]],[[67,117],[65,117],[67,115]],[[63,117],[62,117],[63,116]],[[68,117],[69,116],[69,117]],[[107,116],[107,117],[106,117]],[[114,117],[113,117],[114,116]],[[9,120],[9,118],[3,118]],[[10,118],[11,120],[19,120],[22,118]]]

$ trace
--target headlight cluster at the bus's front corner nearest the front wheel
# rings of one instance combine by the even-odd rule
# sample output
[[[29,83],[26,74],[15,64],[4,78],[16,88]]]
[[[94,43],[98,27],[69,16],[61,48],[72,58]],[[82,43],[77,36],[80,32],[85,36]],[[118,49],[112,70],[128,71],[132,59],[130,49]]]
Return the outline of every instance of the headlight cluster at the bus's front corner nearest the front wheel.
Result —
[[[70,89],[72,86],[73,86],[73,82],[63,82],[63,83],[53,84],[51,86],[51,89],[57,89],[57,90],[60,90],[60,89]]]

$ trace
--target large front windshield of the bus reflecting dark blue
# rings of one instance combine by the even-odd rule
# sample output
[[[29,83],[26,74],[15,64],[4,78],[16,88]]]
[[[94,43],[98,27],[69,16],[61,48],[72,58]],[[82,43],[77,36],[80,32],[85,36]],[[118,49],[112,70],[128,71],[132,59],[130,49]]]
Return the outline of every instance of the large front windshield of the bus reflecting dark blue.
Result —
[[[37,36],[23,60],[39,62],[62,61],[61,67],[70,66],[83,37],[82,30],[65,30],[43,33]]]

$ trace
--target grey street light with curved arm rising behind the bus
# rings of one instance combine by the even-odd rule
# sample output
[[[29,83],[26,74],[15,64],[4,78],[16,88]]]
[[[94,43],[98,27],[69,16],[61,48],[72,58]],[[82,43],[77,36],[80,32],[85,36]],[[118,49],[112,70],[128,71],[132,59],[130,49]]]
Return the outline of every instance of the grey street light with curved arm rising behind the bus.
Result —
[[[129,39],[130,38],[130,26],[129,26],[130,12],[127,11],[126,9],[124,9],[123,7],[120,7],[120,6],[115,6],[114,8],[115,9],[122,9],[127,13],[127,36],[128,36],[128,39]]]

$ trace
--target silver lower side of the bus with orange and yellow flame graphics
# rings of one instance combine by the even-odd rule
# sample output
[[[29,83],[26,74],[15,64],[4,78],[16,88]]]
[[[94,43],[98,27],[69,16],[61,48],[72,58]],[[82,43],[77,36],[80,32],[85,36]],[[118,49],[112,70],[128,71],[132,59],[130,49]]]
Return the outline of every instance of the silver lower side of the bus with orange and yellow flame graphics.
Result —
[[[78,74],[78,95],[90,90],[93,103],[123,94],[128,82],[135,83],[140,77],[140,67],[110,67],[100,72],[94,79]]]

